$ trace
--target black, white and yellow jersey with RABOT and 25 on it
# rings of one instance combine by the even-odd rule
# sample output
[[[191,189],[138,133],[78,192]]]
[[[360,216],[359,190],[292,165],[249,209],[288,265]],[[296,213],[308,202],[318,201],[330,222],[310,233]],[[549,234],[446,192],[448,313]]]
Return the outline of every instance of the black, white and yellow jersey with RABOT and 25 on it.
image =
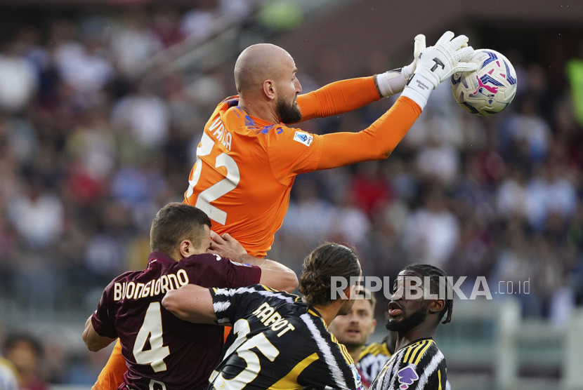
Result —
[[[263,285],[211,288],[217,323],[233,325],[209,390],[361,390],[360,376],[313,307]]]

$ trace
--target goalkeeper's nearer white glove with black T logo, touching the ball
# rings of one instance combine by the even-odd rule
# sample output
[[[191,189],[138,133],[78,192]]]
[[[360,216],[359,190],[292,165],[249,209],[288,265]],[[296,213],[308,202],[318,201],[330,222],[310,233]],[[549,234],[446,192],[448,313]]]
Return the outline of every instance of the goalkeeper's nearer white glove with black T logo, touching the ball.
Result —
[[[463,62],[473,54],[473,48],[467,46],[468,37],[453,32],[445,32],[435,43],[421,51],[417,59],[415,72],[407,80],[402,96],[414,100],[421,109],[427,104],[431,91],[440,82],[447,80],[455,72],[471,72],[478,69],[475,62]]]

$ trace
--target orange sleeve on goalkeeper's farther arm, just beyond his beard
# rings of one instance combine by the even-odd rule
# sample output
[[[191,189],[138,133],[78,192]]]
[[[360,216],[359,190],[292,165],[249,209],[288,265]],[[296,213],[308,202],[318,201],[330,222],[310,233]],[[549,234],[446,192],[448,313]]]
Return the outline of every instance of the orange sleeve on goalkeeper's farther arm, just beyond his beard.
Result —
[[[374,76],[348,79],[330,83],[313,92],[298,96],[301,120],[343,114],[368,105],[381,96],[374,83]]]

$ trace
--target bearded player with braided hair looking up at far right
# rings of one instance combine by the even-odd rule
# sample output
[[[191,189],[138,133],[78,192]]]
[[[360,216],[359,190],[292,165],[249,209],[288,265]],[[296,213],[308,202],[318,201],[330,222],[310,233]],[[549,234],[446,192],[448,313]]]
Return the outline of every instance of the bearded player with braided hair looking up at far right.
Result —
[[[443,316],[447,314],[443,323],[452,320],[445,272],[428,264],[409,265],[400,271],[394,290],[385,326],[398,333],[395,354],[370,390],[445,390],[445,358],[433,341]]]

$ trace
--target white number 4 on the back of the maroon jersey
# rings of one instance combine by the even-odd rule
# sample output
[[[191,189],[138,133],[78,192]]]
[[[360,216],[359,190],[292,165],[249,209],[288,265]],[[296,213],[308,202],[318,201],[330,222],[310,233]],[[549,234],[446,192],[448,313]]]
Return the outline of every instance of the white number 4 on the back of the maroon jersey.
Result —
[[[146,342],[150,337],[150,349],[146,348]],[[170,349],[164,347],[162,339],[162,314],[160,303],[152,302],[146,311],[144,323],[136,336],[133,344],[133,358],[138,364],[149,364],[154,372],[166,371],[164,358],[170,354]]]

